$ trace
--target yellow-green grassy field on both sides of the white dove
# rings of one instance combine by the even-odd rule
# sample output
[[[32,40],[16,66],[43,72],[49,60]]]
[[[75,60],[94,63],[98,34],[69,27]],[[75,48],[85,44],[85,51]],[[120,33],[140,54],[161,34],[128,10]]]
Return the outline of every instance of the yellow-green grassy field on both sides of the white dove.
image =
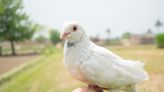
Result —
[[[125,59],[145,62],[150,79],[138,85],[141,92],[164,92],[164,49],[154,46],[106,48]],[[62,54],[61,49],[46,50],[44,59],[0,85],[0,92],[71,92],[84,86],[65,69]]]

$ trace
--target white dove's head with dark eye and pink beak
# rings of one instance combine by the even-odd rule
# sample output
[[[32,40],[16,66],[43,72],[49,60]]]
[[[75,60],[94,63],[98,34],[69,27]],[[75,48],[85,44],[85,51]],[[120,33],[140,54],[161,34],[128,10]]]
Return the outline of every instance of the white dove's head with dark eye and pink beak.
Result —
[[[66,22],[63,25],[63,32],[60,39],[67,41],[78,41],[85,35],[83,27],[76,21]]]

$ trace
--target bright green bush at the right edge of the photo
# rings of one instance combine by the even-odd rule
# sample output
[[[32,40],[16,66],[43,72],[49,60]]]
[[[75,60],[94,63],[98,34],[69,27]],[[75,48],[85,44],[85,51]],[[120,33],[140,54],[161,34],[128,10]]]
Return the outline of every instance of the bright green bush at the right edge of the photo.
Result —
[[[164,48],[164,33],[157,34],[156,42],[157,42],[158,48]]]

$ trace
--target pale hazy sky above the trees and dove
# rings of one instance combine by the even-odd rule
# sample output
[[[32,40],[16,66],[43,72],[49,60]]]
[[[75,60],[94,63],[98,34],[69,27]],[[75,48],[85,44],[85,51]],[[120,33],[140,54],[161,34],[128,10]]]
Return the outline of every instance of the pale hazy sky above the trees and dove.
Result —
[[[125,32],[157,32],[164,23],[164,0],[23,0],[24,11],[35,23],[61,31],[66,21],[78,21],[88,35],[120,37]],[[164,26],[161,27],[161,31]],[[46,34],[46,33],[45,33]]]

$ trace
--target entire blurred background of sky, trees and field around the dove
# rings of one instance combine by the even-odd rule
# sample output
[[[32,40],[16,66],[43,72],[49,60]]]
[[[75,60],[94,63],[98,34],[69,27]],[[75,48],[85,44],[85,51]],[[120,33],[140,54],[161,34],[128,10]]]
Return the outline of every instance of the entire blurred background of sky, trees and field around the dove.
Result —
[[[94,43],[140,60],[150,79],[141,92],[164,92],[163,0],[0,0],[0,92],[71,92],[86,86],[63,64],[66,21]]]

